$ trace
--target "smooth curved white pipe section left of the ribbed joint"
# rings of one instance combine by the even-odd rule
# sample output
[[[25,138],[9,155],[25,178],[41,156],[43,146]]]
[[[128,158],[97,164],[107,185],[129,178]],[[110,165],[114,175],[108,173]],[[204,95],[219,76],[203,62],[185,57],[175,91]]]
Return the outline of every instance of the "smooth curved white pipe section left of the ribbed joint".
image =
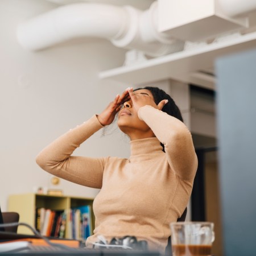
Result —
[[[118,38],[125,32],[127,13],[111,5],[62,6],[20,23],[17,36],[26,49],[36,51],[80,37]]]

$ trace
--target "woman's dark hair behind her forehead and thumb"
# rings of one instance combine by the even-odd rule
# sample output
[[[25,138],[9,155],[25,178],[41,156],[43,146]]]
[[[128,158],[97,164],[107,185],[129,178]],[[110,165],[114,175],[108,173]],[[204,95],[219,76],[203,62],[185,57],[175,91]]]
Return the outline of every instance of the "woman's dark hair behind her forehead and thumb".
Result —
[[[166,105],[164,105],[164,107],[162,108],[162,111],[166,112],[168,115],[172,115],[172,117],[176,117],[181,122],[183,122],[183,118],[182,118],[182,115],[180,113],[180,109],[175,104],[172,97],[169,94],[167,94],[166,92],[164,92],[164,90],[159,89],[158,87],[146,86],[144,88],[134,89],[134,91],[135,90],[141,90],[141,89],[150,90],[150,92],[152,93],[152,95],[154,97],[154,101],[155,101],[156,105],[158,105],[159,102],[162,101],[162,100],[168,100],[168,103]]]

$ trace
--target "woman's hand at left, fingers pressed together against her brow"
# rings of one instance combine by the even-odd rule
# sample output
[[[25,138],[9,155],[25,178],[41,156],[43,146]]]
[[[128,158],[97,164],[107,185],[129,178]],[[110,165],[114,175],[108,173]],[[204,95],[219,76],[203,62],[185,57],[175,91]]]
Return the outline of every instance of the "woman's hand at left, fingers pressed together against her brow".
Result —
[[[101,114],[97,115],[98,121],[101,125],[110,125],[114,121],[115,114],[119,112],[121,109],[121,105],[123,102],[130,100],[129,92],[126,89],[125,92],[120,96],[117,94],[114,100],[110,102],[110,104],[102,111]]]

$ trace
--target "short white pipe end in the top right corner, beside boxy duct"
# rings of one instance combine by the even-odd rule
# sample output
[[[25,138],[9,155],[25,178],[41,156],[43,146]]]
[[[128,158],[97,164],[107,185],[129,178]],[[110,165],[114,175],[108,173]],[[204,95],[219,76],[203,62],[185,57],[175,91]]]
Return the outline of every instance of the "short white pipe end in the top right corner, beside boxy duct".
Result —
[[[256,10],[256,0],[217,0],[221,10],[230,17],[248,15]]]

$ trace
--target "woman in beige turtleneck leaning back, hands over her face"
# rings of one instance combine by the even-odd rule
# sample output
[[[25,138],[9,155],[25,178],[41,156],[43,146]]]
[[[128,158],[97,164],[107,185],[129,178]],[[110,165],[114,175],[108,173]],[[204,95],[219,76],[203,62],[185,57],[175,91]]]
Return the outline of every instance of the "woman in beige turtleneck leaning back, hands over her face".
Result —
[[[129,159],[71,156],[117,113],[119,129],[130,137]],[[53,175],[101,189],[93,203],[96,228],[86,246],[92,247],[98,235],[108,241],[129,235],[161,253],[170,222],[181,216],[191,196],[197,168],[191,133],[179,109],[153,87],[127,88],[101,114],[44,148],[36,162]]]

